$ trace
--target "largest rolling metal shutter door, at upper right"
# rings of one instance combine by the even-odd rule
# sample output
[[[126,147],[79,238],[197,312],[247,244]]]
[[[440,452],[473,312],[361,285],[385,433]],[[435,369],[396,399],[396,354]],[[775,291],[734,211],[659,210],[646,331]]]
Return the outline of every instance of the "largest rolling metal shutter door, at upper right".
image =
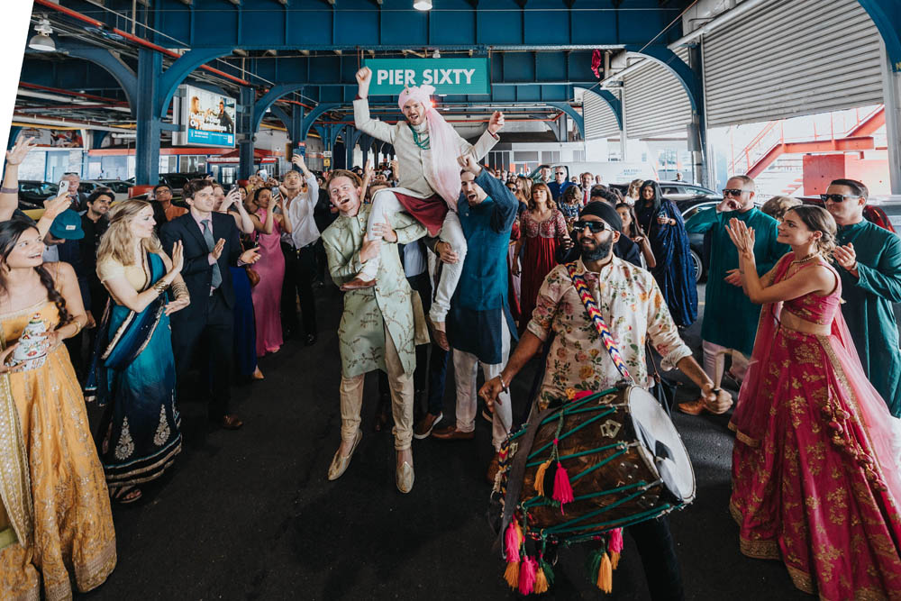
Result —
[[[882,102],[876,25],[857,0],[774,0],[703,41],[707,125]]]

